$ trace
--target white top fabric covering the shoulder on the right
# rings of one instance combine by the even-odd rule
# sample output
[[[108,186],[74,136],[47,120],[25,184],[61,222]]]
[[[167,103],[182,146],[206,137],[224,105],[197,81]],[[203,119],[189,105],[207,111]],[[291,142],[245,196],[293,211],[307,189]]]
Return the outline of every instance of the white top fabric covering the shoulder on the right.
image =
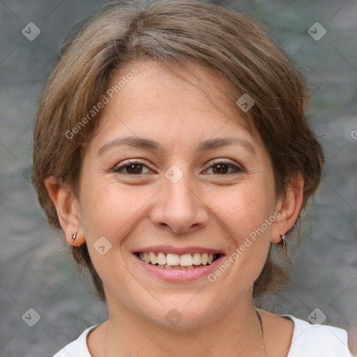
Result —
[[[291,315],[294,322],[288,357],[351,357],[347,331],[328,325],[314,325]]]

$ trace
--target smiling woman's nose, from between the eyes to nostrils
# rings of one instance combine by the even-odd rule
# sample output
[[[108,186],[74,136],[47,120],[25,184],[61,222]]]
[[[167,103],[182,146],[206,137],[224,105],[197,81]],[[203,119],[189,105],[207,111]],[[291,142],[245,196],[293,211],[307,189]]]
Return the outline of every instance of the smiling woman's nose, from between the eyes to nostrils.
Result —
[[[153,222],[160,227],[169,227],[176,233],[204,225],[208,221],[208,213],[195,194],[195,187],[194,178],[188,169],[183,172],[176,165],[167,169],[151,215]]]

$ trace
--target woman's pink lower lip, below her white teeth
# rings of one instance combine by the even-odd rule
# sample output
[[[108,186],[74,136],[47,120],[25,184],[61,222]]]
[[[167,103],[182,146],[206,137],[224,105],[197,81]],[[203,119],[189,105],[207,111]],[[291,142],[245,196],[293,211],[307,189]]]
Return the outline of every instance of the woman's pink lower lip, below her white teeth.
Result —
[[[220,256],[217,260],[213,261],[211,265],[202,266],[202,268],[192,269],[166,269],[160,266],[151,265],[142,261],[139,257],[134,255],[138,263],[150,275],[156,278],[166,280],[167,282],[192,282],[200,278],[207,277],[208,274],[213,273],[220,265],[224,255]]]

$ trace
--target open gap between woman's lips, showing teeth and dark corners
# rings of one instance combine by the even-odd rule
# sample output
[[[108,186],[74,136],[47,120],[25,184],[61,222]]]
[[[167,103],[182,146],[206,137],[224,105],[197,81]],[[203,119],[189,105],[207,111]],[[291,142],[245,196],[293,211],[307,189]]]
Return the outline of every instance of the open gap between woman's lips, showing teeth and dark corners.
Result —
[[[170,270],[190,270],[210,266],[220,257],[221,253],[192,252],[184,255],[164,252],[134,252],[146,264]]]

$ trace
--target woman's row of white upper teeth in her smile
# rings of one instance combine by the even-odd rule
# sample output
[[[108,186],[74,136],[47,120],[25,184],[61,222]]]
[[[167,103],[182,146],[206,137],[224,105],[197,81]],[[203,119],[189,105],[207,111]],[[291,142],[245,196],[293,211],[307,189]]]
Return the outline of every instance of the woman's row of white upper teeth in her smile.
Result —
[[[167,255],[164,253],[155,254],[153,252],[149,253],[140,253],[139,258],[144,260],[146,263],[151,263],[153,265],[170,265],[170,266],[192,266],[192,265],[207,265],[212,264],[213,254],[185,254],[185,255],[177,255],[168,253]]]

